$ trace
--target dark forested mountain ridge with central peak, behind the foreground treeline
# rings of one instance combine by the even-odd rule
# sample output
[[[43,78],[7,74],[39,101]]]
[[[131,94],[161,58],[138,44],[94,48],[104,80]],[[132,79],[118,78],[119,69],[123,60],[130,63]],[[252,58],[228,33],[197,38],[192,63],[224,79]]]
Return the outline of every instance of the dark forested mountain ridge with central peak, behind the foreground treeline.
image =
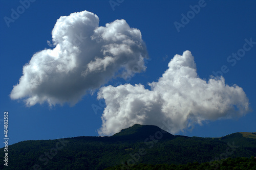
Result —
[[[8,146],[0,169],[104,169],[134,164],[186,164],[256,156],[255,133],[220,138],[172,135],[157,126],[134,125],[110,137],[28,140]],[[4,148],[0,155],[4,157]],[[125,168],[124,168],[125,169]]]

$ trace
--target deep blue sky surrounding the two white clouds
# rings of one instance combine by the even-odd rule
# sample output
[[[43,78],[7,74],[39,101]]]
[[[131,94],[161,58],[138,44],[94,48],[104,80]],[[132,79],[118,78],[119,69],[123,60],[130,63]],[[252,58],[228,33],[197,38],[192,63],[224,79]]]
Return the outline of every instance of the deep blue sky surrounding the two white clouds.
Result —
[[[188,50],[194,56],[200,79],[208,81],[214,72],[222,69],[227,85],[237,84],[243,89],[249,99],[250,111],[231,119],[205,120],[202,125],[195,124],[193,130],[184,129],[176,134],[221,137],[234,132],[255,132],[255,1],[113,2],[117,4],[111,6],[109,1],[34,1],[23,8],[24,11],[13,22],[7,23],[4,18],[12,18],[13,10],[22,10],[22,4],[19,1],[1,1],[0,119],[3,119],[5,111],[9,112],[9,144],[24,140],[99,135],[97,130],[102,125],[101,115],[105,105],[100,103],[102,100],[97,100],[98,88],[93,94],[87,92],[74,106],[64,103],[49,107],[45,102],[28,107],[23,99],[10,98],[13,86],[23,76],[23,66],[36,52],[53,49],[47,41],[52,40],[51,32],[56,20],[84,10],[98,16],[99,26],[105,27],[106,23],[124,19],[131,28],[139,29],[150,57],[150,60],[144,60],[146,70],[136,73],[131,80],[113,78],[101,87],[121,82],[142,84],[150,89],[147,84],[162,77],[170,60]],[[197,14],[191,12],[191,7],[196,5],[201,6]],[[182,20],[182,14],[191,14],[189,22]],[[179,29],[175,26],[178,22],[183,23]],[[254,44],[248,44],[248,41]],[[246,51],[243,50],[245,43]],[[229,57],[238,52],[245,54],[240,54],[243,57],[239,59]],[[92,106],[98,106],[97,112]],[[0,123],[3,126],[3,122]]]

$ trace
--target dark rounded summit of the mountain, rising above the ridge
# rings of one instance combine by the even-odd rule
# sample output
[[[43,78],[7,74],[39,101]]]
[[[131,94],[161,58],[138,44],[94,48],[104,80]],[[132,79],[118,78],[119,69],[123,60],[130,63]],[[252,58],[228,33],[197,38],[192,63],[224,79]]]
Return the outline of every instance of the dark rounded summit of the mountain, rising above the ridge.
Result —
[[[132,127],[122,129],[120,132],[113,135],[113,137],[121,137],[124,139],[138,140],[158,134],[161,138],[173,138],[174,135],[162,130],[161,128],[154,125],[139,125],[135,124]]]

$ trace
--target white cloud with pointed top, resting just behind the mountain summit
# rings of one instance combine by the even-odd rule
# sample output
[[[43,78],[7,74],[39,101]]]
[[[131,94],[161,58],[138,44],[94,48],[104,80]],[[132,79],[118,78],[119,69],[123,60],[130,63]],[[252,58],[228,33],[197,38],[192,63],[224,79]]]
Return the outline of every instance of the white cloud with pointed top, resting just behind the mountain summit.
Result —
[[[242,116],[249,110],[248,99],[237,85],[228,86],[223,77],[208,81],[197,75],[194,57],[189,51],[175,55],[151,90],[141,84],[100,88],[98,99],[106,107],[100,135],[112,135],[134,124],[156,125],[177,133],[204,120]]]

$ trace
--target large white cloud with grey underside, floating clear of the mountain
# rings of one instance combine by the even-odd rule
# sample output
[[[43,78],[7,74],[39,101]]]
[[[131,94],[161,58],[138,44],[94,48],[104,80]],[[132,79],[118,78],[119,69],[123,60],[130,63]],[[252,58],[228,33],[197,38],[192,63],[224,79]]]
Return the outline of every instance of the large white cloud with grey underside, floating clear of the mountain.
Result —
[[[24,99],[28,106],[75,104],[113,77],[125,79],[145,70],[141,33],[123,19],[99,27],[98,16],[88,11],[61,16],[52,42],[54,49],[37,52],[23,67],[11,99]]]

